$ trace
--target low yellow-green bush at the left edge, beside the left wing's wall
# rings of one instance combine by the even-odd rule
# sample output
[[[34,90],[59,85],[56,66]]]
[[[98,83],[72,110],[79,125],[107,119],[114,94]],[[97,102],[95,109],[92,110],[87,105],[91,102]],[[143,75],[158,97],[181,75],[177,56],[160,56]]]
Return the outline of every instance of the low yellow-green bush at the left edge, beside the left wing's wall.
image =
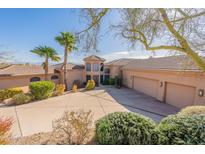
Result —
[[[8,98],[12,98],[14,95],[23,93],[23,90],[20,88],[9,88],[0,90],[0,101],[3,101]]]

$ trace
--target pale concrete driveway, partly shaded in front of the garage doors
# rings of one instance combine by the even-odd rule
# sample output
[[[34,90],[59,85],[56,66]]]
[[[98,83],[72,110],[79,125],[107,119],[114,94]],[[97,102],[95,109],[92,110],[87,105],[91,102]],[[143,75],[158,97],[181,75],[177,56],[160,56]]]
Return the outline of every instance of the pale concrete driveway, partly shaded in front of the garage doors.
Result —
[[[116,111],[132,111],[159,121],[177,108],[131,89],[99,87],[92,91],[68,93],[20,106],[0,107],[0,116],[13,117],[14,136],[27,136],[52,130],[52,121],[64,111],[91,110],[93,119]]]

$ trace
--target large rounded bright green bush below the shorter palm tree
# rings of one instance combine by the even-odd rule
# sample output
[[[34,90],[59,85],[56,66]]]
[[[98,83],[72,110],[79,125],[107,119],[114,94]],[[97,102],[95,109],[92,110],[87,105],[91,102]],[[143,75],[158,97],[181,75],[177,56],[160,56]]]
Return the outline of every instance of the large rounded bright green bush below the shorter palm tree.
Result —
[[[51,81],[32,82],[29,85],[31,95],[36,99],[45,99],[52,96],[55,84]]]

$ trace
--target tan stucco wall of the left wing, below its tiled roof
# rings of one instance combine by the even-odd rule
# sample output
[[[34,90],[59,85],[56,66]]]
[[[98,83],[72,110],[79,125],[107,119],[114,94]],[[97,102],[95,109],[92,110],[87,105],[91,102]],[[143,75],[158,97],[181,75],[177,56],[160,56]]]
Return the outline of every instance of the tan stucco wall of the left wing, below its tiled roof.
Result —
[[[49,79],[54,74],[49,75]],[[56,74],[58,75],[58,74]],[[12,76],[12,77],[0,77],[0,89],[13,88],[13,87],[26,87],[30,84],[30,79],[32,77],[40,77],[41,80],[44,80],[44,75],[24,75],[24,76]],[[53,80],[56,84],[59,83],[59,80]]]

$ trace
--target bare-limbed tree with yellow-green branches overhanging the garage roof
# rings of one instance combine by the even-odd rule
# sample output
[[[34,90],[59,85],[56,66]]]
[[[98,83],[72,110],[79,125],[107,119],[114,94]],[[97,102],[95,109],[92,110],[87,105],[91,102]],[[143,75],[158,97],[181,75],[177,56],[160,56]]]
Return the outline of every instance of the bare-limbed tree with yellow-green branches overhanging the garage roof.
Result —
[[[99,26],[110,10],[84,11],[90,24],[82,32],[88,33]],[[205,52],[205,9],[118,9],[118,12],[121,19],[111,27],[132,46],[139,42],[152,52],[177,51],[189,56],[205,72],[205,61],[200,56]]]

